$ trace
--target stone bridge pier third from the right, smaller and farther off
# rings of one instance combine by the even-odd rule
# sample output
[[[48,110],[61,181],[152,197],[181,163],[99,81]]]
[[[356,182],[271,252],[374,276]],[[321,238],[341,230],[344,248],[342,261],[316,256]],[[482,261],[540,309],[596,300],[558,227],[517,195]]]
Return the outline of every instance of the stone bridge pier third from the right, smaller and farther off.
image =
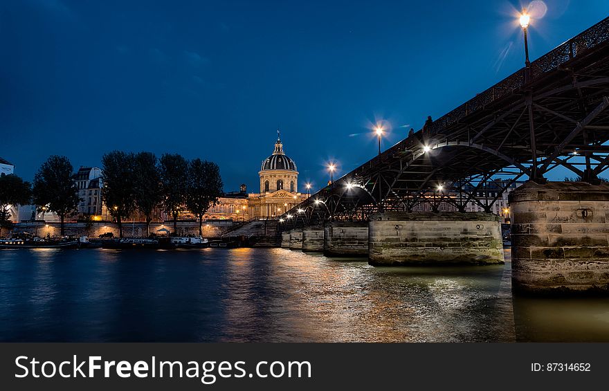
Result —
[[[323,251],[327,257],[367,257],[367,221],[329,221],[326,223]]]

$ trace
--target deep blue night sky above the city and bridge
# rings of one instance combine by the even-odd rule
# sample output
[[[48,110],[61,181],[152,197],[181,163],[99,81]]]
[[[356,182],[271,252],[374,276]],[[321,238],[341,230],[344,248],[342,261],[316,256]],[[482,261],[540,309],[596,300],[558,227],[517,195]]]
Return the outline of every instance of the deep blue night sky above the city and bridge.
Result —
[[[531,60],[609,15],[607,0],[545,3]],[[392,125],[385,149],[522,67],[521,8],[2,1],[0,156],[31,180],[50,154],[78,168],[113,149],[180,153],[218,163],[226,191],[257,192],[279,127],[299,190],[318,188],[329,159],[340,176],[376,154],[376,120]]]

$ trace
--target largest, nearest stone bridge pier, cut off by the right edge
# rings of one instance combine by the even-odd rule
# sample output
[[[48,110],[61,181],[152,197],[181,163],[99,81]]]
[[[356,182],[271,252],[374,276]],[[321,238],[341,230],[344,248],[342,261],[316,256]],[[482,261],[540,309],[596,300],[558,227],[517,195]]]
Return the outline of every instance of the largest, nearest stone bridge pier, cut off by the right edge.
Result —
[[[609,293],[608,184],[527,182],[509,202],[515,289]]]

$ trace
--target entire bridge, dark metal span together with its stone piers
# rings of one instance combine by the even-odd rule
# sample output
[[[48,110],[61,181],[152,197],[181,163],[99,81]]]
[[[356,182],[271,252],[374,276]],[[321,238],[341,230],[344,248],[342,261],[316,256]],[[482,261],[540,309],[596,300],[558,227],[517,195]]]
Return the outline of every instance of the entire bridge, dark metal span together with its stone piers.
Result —
[[[516,285],[609,290],[607,107],[609,18],[284,212],[284,245],[371,264],[502,262],[488,212],[527,179],[510,197]],[[547,182],[556,167],[581,180]],[[464,213],[469,202],[487,213]]]

